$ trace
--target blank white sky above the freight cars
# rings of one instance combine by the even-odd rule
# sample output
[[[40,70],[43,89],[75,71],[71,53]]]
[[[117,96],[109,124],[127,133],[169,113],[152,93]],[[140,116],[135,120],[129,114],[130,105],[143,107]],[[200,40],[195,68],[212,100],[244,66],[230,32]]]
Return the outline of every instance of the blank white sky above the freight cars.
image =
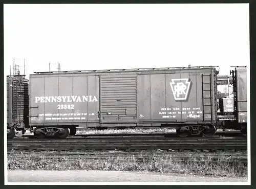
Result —
[[[249,65],[249,4],[5,4],[4,63],[33,72]],[[55,64],[55,65],[54,65]],[[24,67],[20,67],[24,73]]]

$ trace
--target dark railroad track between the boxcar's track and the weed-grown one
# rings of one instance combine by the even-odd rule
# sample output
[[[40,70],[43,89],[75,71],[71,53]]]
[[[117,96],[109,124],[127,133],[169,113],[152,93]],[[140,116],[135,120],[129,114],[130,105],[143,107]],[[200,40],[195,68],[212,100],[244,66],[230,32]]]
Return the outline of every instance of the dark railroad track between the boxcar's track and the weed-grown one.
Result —
[[[86,137],[66,139],[13,139],[8,150],[246,150],[246,137]]]

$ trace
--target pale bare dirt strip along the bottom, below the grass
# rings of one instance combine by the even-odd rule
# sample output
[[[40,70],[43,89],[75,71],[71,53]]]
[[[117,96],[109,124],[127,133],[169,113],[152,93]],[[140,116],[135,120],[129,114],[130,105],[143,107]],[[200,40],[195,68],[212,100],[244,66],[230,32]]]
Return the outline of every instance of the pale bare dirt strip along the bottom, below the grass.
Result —
[[[247,182],[247,178],[120,171],[8,170],[8,182]]]

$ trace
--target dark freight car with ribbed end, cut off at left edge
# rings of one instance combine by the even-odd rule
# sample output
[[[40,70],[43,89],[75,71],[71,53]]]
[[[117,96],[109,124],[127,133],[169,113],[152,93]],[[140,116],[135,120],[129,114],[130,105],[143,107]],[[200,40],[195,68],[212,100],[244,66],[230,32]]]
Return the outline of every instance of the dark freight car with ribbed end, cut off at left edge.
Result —
[[[7,136],[29,127],[29,81],[24,76],[7,76]]]

